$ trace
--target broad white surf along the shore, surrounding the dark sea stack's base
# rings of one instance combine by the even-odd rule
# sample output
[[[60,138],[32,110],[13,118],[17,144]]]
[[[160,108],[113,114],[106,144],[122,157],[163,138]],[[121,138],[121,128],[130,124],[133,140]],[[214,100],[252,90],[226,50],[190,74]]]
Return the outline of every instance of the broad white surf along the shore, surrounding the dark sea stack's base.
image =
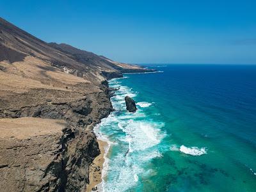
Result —
[[[152,174],[152,170],[143,168],[145,163],[162,157],[157,145],[165,135],[161,131],[164,123],[147,119],[143,108],[149,107],[152,103],[137,103],[141,106],[135,113],[126,112],[125,96],[135,97],[138,92],[122,85],[118,79],[109,81],[109,86],[118,89],[115,91],[115,96],[111,98],[111,103],[116,110],[102,119],[94,129],[97,137],[107,140],[109,144],[104,154],[102,183],[98,186],[106,192],[129,191],[141,177]],[[111,151],[109,152],[111,157],[112,152],[115,151],[114,148],[118,153],[114,152],[114,158],[109,159],[108,151]]]

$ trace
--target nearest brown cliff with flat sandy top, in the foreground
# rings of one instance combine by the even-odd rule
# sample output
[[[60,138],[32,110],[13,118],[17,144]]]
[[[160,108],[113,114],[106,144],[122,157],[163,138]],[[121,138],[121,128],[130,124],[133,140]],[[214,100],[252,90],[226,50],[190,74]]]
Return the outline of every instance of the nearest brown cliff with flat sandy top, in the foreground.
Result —
[[[20,129],[19,133],[12,133],[12,138],[3,135],[0,138],[1,191],[77,191],[83,188],[88,178],[87,163],[99,153],[91,131],[79,133],[63,122],[33,117],[0,119],[0,122],[10,130]],[[49,122],[51,124],[45,126]],[[31,129],[44,133],[33,133]],[[83,163],[77,165],[81,159]],[[70,172],[74,177],[70,177]],[[80,179],[83,182],[78,182]]]

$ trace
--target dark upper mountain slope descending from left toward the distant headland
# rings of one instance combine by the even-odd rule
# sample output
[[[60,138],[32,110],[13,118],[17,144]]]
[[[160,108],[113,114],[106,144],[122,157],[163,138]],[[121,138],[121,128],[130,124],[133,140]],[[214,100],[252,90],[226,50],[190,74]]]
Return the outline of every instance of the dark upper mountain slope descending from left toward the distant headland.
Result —
[[[145,71],[145,69],[129,64],[111,61],[106,57],[84,50],[79,50],[70,45],[61,43],[45,43],[22,29],[13,26],[0,18],[0,61],[23,61],[26,56],[36,57],[50,63],[61,70],[68,70],[79,77],[86,73],[99,75],[102,71],[118,73],[122,70]],[[118,71],[119,70],[119,71]]]

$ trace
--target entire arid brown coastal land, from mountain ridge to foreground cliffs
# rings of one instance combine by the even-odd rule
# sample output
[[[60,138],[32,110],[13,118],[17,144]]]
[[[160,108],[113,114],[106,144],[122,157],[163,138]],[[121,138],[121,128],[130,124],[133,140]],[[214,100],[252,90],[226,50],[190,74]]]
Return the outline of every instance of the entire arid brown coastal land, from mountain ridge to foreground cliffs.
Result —
[[[83,191],[99,154],[92,128],[113,110],[107,79],[148,71],[0,18],[0,191]]]

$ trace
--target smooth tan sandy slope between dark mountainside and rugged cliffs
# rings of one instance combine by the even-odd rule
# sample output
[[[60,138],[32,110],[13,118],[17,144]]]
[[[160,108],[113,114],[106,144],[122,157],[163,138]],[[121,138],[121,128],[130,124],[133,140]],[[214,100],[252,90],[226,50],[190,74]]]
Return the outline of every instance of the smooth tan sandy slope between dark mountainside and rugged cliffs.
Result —
[[[70,75],[35,57],[26,57],[24,61],[9,64],[0,62],[0,88],[4,91],[26,92],[28,89],[67,90],[70,85],[90,84],[84,78]]]

